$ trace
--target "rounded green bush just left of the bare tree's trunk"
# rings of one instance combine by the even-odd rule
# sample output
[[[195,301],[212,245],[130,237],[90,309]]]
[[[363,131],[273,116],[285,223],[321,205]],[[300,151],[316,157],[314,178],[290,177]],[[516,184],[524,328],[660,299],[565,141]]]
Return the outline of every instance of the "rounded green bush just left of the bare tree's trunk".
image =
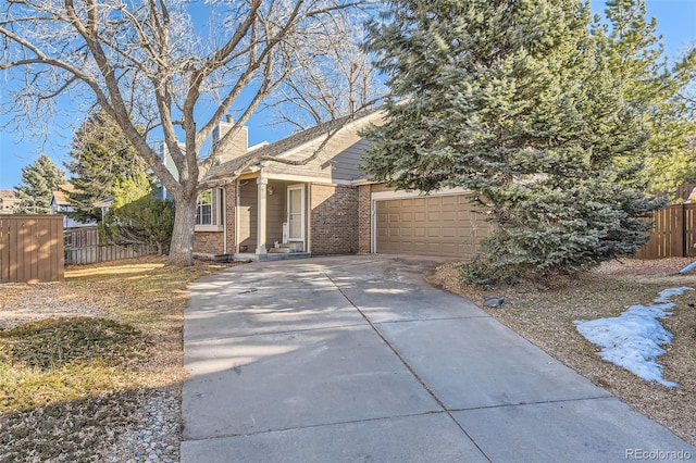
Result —
[[[99,224],[101,236],[115,245],[148,245],[158,254],[169,252],[174,227],[174,203],[150,195],[145,173],[114,179],[114,201]]]

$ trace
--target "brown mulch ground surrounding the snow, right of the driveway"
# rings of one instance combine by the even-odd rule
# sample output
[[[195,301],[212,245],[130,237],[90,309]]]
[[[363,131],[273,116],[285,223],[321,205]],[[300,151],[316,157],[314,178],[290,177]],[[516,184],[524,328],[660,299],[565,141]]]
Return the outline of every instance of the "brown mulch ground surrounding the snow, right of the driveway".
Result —
[[[696,275],[678,272],[688,259],[612,262],[597,272],[573,278],[558,277],[512,288],[482,290],[459,283],[456,264],[439,267],[431,281],[462,295],[483,308],[486,295],[502,296],[500,309],[483,308],[492,316],[572,367],[594,384],[608,389],[635,411],[670,428],[696,445],[696,291],[674,297],[673,315],[661,320],[674,337],[668,352],[658,359],[664,378],[678,389],[645,381],[632,373],[602,361],[598,348],[583,338],[575,320],[618,316],[633,304],[648,304],[667,288],[696,289]]]

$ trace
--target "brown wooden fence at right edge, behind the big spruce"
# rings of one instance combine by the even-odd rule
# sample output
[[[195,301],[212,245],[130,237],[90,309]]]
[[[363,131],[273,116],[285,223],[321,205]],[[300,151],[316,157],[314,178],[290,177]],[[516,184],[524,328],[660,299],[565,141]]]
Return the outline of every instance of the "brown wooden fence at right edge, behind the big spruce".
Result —
[[[655,213],[650,240],[638,259],[696,256],[696,204],[674,204]]]

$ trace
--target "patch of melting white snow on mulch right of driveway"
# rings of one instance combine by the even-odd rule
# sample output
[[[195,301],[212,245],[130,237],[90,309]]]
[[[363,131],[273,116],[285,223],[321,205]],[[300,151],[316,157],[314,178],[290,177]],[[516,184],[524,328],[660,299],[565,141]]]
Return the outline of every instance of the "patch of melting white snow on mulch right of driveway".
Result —
[[[664,366],[657,363],[657,358],[666,352],[661,346],[672,341],[672,334],[657,318],[672,314],[668,310],[674,303],[669,302],[669,298],[691,289],[685,286],[666,289],[651,305],[631,305],[621,315],[610,318],[576,320],[575,327],[585,339],[601,348],[597,354],[604,360],[645,380],[679,387],[662,378]]]

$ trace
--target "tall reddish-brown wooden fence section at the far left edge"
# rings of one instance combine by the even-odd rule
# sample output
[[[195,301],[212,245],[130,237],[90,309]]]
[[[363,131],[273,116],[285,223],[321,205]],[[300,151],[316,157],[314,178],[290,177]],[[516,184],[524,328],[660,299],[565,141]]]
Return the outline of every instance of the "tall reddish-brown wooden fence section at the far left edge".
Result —
[[[63,280],[63,216],[0,215],[0,283]]]

